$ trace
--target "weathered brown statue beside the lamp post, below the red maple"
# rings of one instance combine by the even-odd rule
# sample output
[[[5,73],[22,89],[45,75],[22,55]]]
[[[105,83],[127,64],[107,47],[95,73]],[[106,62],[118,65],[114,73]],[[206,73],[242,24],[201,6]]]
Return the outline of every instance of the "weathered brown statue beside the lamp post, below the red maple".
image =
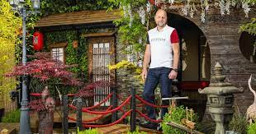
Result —
[[[40,134],[52,134],[55,113],[55,99],[50,97],[48,86],[41,93],[41,98],[45,104],[45,110],[39,112],[39,129]]]

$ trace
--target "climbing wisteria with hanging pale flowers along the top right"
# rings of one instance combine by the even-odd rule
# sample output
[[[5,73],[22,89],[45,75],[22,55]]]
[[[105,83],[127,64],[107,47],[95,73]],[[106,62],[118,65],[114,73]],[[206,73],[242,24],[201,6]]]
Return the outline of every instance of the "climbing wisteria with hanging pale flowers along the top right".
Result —
[[[121,10],[121,19],[116,20],[115,24],[119,26],[119,33],[121,43],[126,44],[123,49],[130,53],[144,52],[145,46],[145,33],[147,30],[152,28],[154,25],[150,25],[150,21],[154,21],[154,12],[157,7],[172,7],[182,5],[180,8],[184,16],[193,17],[196,12],[201,12],[201,22],[206,21],[205,16],[210,10],[219,8],[220,15],[230,15],[231,8],[239,8],[244,11],[244,16],[249,16],[251,7],[254,6],[256,0],[108,0],[112,6],[109,7],[111,10],[113,7],[119,7]],[[154,6],[152,6],[154,5]],[[140,58],[139,58],[140,59]]]

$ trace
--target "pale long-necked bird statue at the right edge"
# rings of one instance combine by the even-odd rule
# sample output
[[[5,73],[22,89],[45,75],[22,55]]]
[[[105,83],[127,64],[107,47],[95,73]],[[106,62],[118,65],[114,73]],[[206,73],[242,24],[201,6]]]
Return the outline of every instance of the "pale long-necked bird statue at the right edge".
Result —
[[[246,112],[246,118],[249,120],[249,124],[251,124],[253,121],[256,122],[256,92],[252,88],[251,81],[252,75],[249,77],[248,85],[249,90],[254,94],[254,104],[251,104]]]

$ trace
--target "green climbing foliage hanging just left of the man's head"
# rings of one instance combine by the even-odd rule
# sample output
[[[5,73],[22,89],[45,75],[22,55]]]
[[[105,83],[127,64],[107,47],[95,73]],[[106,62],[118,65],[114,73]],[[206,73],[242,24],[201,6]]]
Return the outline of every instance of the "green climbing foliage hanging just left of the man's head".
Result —
[[[144,7],[146,0],[109,0],[114,7],[120,6],[121,19],[114,21],[119,26],[118,36],[120,37],[123,53],[144,53],[147,26],[140,22],[139,8]],[[130,7],[132,16],[128,15],[125,8]],[[112,7],[109,7],[111,9]],[[131,48],[131,49],[129,49]],[[143,54],[142,54],[143,55]],[[140,59],[140,57],[138,58]]]

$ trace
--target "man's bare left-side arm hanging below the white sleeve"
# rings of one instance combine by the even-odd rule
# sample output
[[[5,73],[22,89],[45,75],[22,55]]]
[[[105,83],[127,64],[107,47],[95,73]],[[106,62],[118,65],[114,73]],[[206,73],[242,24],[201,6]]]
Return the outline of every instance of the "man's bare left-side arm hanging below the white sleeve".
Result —
[[[146,50],[145,50],[145,55],[144,55],[144,60],[143,60],[143,69],[142,69],[142,80],[145,81],[145,78],[147,77],[147,69],[149,67],[149,62],[151,58],[151,53],[150,53],[150,44],[146,44]]]

